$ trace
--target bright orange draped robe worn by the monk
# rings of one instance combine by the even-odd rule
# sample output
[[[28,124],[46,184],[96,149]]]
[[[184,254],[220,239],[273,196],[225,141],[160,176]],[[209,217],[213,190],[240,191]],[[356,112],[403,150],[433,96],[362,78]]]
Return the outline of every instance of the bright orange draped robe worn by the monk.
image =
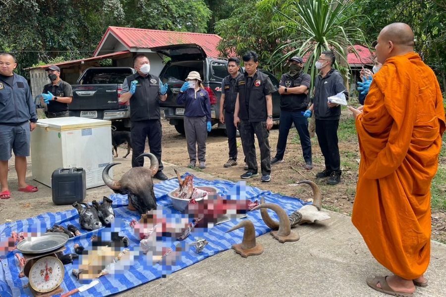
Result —
[[[415,279],[429,265],[430,187],[445,132],[440,86],[418,54],[386,60],[356,130],[361,163],[352,222],[378,262]]]

